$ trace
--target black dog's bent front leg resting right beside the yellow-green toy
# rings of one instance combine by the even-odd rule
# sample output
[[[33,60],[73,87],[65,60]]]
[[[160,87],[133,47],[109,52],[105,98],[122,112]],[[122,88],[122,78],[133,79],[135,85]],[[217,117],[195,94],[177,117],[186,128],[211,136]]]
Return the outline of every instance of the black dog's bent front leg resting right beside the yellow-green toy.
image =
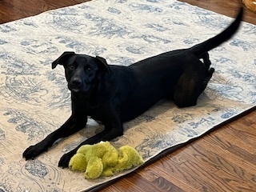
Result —
[[[95,134],[93,137],[86,139],[86,141],[82,142],[74,150],[71,150],[69,153],[64,154],[58,162],[58,166],[62,168],[68,167],[70,158],[72,158],[72,156],[77,152],[80,146],[86,144],[92,145],[102,141],[110,141],[123,134],[122,122],[118,116],[118,113],[116,112],[116,110],[113,109],[113,107],[106,107],[106,110],[104,112],[104,118],[105,121],[103,121],[103,124],[105,125],[105,129],[101,133]]]

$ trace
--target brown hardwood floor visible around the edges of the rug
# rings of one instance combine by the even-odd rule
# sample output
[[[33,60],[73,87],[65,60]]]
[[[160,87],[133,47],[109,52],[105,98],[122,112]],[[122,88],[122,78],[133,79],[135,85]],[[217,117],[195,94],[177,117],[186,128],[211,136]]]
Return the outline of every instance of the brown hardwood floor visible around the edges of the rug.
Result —
[[[80,2],[86,1],[0,0],[0,23]],[[234,16],[240,6],[238,0],[182,2],[227,16]],[[246,10],[244,20],[256,24],[256,14]],[[102,191],[256,191],[256,112],[219,127]]]

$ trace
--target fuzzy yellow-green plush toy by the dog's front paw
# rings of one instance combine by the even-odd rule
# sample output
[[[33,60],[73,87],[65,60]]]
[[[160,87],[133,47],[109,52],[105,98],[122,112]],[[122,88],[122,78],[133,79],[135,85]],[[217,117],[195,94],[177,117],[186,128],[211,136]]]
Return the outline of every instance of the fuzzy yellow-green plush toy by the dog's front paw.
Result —
[[[131,146],[122,146],[116,150],[110,142],[98,142],[81,146],[70,159],[69,167],[70,170],[85,171],[85,178],[94,179],[129,170],[142,163],[142,157]]]

